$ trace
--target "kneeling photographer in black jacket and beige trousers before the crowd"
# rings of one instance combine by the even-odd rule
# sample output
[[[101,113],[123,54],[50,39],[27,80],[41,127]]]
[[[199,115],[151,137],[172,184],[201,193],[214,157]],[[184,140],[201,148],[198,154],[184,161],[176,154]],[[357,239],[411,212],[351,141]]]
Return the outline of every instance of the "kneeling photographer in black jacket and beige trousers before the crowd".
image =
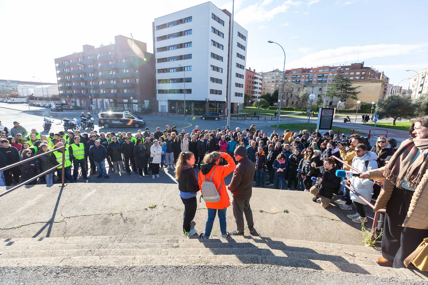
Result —
[[[330,206],[330,200],[333,194],[337,193],[340,185],[340,178],[336,176],[337,165],[334,159],[327,157],[324,159],[324,165],[316,167],[315,162],[312,162],[309,167],[308,176],[317,177],[317,182],[311,187],[311,194],[315,195],[312,201],[318,203],[318,198],[321,196],[321,206],[327,208]]]

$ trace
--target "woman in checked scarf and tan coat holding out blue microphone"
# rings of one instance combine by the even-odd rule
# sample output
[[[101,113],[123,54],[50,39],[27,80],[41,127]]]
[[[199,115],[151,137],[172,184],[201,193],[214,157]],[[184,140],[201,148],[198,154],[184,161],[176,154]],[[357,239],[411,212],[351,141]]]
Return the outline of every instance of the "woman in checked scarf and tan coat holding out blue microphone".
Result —
[[[428,116],[414,120],[409,133],[388,164],[359,176],[385,178],[373,209],[386,207],[381,266],[407,267],[404,259],[428,237]]]

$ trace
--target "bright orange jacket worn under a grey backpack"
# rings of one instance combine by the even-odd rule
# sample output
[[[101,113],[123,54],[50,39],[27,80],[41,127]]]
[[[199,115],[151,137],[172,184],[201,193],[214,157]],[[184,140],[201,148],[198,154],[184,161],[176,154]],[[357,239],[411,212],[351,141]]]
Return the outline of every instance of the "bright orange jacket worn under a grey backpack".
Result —
[[[224,177],[228,176],[229,173],[231,173],[235,169],[236,165],[232,159],[232,156],[229,156],[229,154],[223,153],[223,155],[221,157],[226,159],[228,165],[217,165],[215,167],[214,176],[212,177],[211,181],[214,183],[214,185],[216,186],[217,189],[220,187],[220,184],[222,181],[223,181],[223,184],[221,185],[221,188],[219,191],[220,201],[219,202],[205,202],[205,205],[207,206],[207,208],[210,208],[210,209],[224,209],[224,208],[227,208],[230,206],[229,194],[227,194],[226,183],[224,182]],[[205,174],[206,176],[208,176],[208,178],[211,177],[213,169],[214,169],[214,167],[211,167],[209,172]],[[202,167],[201,171],[199,171],[199,177],[198,177],[199,189],[201,189],[202,182],[205,181],[205,175],[202,173],[202,171],[203,171],[203,167]]]

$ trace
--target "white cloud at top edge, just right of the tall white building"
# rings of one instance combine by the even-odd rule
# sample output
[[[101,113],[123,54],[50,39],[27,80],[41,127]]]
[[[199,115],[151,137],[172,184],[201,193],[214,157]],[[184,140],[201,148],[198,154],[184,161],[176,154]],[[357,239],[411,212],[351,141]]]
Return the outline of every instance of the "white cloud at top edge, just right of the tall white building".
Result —
[[[277,14],[284,13],[291,7],[299,6],[300,1],[286,0],[277,6],[269,5],[272,0],[264,0],[262,2],[250,5],[241,9],[235,14],[235,21],[240,25],[245,25],[254,22],[266,22],[272,20]],[[261,17],[261,15],[263,15]]]

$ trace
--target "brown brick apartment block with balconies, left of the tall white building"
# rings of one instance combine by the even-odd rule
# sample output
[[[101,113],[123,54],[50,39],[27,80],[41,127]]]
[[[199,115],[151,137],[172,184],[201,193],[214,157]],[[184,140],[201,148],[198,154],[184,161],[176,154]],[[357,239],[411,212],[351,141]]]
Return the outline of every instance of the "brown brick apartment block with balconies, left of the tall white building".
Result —
[[[114,44],[94,47],[55,59],[62,102],[107,109],[154,109],[155,60],[147,44],[123,35]],[[93,100],[92,100],[93,98]],[[157,108],[156,108],[157,109]]]

